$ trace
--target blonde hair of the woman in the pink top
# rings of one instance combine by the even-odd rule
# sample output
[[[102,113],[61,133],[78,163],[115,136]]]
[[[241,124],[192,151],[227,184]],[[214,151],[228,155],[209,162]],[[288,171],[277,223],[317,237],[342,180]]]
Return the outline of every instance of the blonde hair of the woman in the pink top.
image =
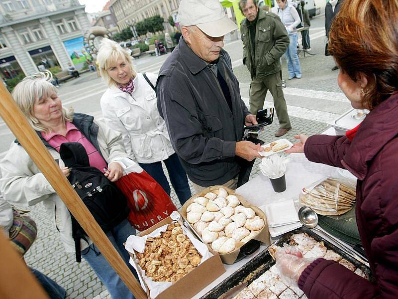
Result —
[[[48,97],[53,93],[58,94],[58,90],[51,84],[52,79],[53,76],[49,71],[35,73],[25,77],[15,86],[11,93],[30,125],[39,132],[51,132],[51,128],[45,127],[33,115],[33,106],[37,99]],[[67,111],[62,108],[62,116],[64,121],[71,122],[73,120],[73,110]]]

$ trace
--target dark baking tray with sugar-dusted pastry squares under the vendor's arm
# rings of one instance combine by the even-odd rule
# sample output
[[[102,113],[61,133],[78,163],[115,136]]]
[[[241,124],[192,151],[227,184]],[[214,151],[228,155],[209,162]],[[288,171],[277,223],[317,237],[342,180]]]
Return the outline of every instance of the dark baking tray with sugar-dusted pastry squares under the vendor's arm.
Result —
[[[298,287],[287,285],[281,280],[275,266],[271,253],[274,254],[275,250],[284,247],[284,244],[297,246],[304,257],[334,260],[355,274],[371,282],[374,281],[370,268],[351,258],[310,229],[300,228],[282,235],[276,243],[203,295],[201,299],[306,299]]]

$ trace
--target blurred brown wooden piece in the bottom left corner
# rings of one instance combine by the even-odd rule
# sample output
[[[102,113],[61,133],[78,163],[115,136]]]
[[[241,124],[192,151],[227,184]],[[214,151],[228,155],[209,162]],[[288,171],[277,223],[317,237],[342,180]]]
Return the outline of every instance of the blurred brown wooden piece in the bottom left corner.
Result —
[[[0,232],[0,298],[48,299],[34,276],[26,268],[21,256]]]

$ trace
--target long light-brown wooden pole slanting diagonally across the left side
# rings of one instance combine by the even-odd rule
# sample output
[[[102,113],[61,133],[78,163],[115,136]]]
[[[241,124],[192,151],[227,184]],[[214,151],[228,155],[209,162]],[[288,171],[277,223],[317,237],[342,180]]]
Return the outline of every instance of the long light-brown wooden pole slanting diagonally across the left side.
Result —
[[[0,116],[131,293],[137,299],[146,299],[146,293],[2,83],[0,84]]]

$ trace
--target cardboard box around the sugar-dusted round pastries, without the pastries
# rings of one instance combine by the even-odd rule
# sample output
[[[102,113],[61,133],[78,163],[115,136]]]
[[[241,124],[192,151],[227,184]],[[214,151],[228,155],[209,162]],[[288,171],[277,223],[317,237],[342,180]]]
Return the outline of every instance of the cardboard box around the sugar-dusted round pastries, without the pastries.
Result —
[[[270,233],[268,231],[268,224],[267,224],[267,217],[265,216],[264,212],[256,207],[253,206],[252,204],[250,204],[250,202],[248,202],[246,199],[243,198],[242,195],[235,193],[234,190],[224,187],[224,186],[211,186],[208,187],[206,189],[204,189],[200,194],[195,194],[194,196],[192,196],[190,199],[188,199],[188,201],[183,205],[183,207],[181,208],[181,215],[183,216],[183,218],[186,220],[186,222],[188,223],[187,220],[187,208],[188,206],[194,202],[194,199],[200,196],[204,196],[206,193],[208,192],[212,192],[215,190],[218,190],[219,188],[224,188],[227,192],[228,195],[235,195],[240,203],[248,208],[252,208],[255,212],[256,212],[256,216],[261,217],[261,219],[264,220],[264,227],[260,230],[260,232],[253,238],[254,240],[258,240],[260,242],[263,242],[267,245],[270,245]],[[194,230],[194,228],[192,227],[192,230]],[[198,233],[197,233],[198,234]],[[207,244],[207,243],[205,243]],[[230,253],[226,253],[226,254],[220,254],[221,260],[223,263],[228,264],[228,265],[232,265],[235,261],[236,258],[239,255],[240,252],[240,248],[245,245],[245,243],[242,242],[237,242],[238,246],[234,251],[231,251]],[[211,246],[210,244],[207,244],[207,247],[211,250]]]

